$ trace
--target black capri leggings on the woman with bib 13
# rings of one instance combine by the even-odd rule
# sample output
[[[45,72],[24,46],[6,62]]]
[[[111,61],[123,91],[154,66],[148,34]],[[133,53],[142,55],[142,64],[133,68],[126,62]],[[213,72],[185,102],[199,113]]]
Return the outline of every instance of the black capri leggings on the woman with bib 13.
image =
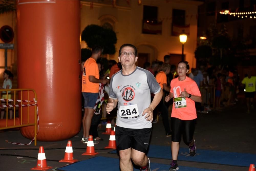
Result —
[[[180,142],[181,135],[183,134],[183,140],[189,144],[193,141],[193,135],[196,126],[196,119],[193,120],[181,120],[176,117],[171,118],[172,127],[172,141]]]

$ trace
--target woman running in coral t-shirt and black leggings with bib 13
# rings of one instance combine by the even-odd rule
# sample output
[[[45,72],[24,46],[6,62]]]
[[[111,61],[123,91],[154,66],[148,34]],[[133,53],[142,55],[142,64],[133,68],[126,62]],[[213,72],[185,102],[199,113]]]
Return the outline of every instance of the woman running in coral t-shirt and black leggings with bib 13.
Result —
[[[169,171],[179,169],[177,159],[182,134],[184,142],[189,144],[190,156],[196,154],[195,139],[193,137],[197,118],[195,102],[202,102],[202,98],[196,82],[186,76],[188,71],[189,65],[187,61],[178,63],[178,78],[171,81],[170,93],[165,97],[166,102],[174,98],[171,115],[172,163]]]

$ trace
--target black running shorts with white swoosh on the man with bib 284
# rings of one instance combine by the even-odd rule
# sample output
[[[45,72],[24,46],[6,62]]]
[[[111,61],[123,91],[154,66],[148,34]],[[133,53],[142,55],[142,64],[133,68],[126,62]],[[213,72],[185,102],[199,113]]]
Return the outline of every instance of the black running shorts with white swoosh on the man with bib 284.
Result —
[[[146,153],[150,141],[152,128],[130,129],[120,126],[115,127],[115,141],[117,150],[128,148]]]

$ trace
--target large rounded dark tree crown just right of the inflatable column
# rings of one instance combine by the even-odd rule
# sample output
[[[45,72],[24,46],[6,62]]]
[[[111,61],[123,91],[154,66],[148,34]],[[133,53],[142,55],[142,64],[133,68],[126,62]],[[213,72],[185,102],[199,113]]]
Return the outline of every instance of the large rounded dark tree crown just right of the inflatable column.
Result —
[[[115,54],[116,33],[111,29],[105,29],[98,25],[88,25],[82,31],[81,39],[87,43],[89,48],[94,45],[104,47],[103,54]]]

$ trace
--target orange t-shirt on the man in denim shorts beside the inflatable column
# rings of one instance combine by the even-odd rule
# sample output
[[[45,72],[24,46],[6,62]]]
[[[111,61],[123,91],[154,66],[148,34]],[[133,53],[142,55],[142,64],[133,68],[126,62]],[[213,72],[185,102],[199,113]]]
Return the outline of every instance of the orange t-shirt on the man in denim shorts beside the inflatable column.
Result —
[[[98,93],[99,83],[90,82],[89,76],[94,76],[97,79],[100,78],[98,65],[93,58],[87,59],[83,66],[82,92]]]

